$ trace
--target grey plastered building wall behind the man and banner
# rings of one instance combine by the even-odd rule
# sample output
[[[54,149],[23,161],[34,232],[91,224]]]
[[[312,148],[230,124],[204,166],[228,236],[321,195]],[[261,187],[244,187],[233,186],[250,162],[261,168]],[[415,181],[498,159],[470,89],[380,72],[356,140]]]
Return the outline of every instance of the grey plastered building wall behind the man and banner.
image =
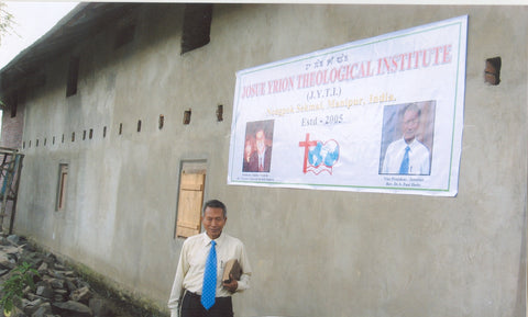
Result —
[[[180,55],[183,7],[153,5],[138,15],[133,43],[114,50],[108,30],[73,47],[76,95],[65,98],[67,54],[45,66],[46,86],[25,101],[15,230],[164,307],[183,244],[173,238],[180,165],[204,159],[206,199],[227,203],[226,230],[245,242],[253,265],[252,288],[234,297],[235,316],[524,316],[527,13],[216,4],[211,42]],[[227,185],[235,71],[464,14],[455,197]],[[485,60],[496,56],[502,82],[488,86]],[[90,129],[92,138],[82,139]],[[69,173],[57,212],[59,163]]]

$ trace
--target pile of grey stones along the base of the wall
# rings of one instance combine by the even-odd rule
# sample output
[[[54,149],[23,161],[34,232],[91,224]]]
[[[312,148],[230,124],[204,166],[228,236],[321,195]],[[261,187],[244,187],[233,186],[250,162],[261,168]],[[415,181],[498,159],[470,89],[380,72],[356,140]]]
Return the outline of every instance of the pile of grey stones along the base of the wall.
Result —
[[[33,274],[34,288],[26,287],[11,317],[124,317],[142,316],[133,308],[99,294],[89,283],[54,254],[40,252],[31,244],[15,235],[0,236],[0,296],[1,285],[11,271],[29,263],[38,274]],[[127,306],[127,305],[124,305]],[[0,309],[0,312],[2,312]],[[2,316],[2,313],[0,313]]]

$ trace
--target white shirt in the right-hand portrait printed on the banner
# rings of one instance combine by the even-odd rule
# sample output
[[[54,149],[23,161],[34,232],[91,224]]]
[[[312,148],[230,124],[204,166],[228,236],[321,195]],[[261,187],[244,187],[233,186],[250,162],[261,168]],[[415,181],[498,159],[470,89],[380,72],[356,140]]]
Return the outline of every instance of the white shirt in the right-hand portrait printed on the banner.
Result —
[[[393,141],[385,152],[382,173],[398,174],[405,148],[409,146],[409,174],[427,176],[430,171],[429,150],[416,138],[408,145],[403,138]]]

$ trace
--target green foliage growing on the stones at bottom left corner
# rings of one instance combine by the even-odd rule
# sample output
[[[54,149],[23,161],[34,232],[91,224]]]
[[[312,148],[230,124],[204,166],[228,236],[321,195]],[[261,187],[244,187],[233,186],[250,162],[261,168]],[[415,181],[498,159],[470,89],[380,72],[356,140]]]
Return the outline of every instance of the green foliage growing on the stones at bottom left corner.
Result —
[[[3,296],[0,299],[0,305],[7,313],[13,309],[15,301],[22,298],[25,287],[35,288],[33,276],[38,275],[38,272],[32,269],[28,262],[23,262],[14,268],[10,274],[11,276],[2,284]]]

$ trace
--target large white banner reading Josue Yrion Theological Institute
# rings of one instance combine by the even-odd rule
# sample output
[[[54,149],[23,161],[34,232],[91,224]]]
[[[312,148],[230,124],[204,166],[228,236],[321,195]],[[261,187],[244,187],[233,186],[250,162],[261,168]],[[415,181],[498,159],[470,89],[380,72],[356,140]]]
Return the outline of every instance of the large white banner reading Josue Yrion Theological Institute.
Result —
[[[237,73],[228,183],[454,196],[468,16]]]

